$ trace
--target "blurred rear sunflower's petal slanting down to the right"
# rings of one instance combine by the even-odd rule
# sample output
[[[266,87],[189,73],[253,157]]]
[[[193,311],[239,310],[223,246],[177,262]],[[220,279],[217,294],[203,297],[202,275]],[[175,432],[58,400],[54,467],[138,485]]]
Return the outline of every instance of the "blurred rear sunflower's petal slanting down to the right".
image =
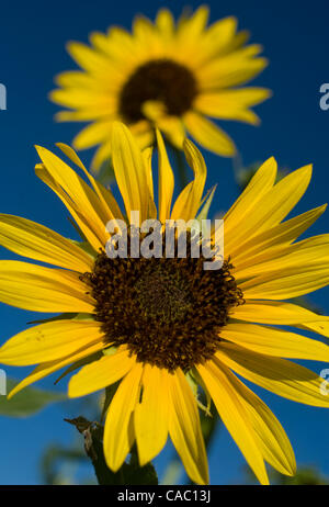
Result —
[[[184,114],[184,124],[194,139],[206,149],[222,157],[232,157],[236,153],[234,142],[215,123],[195,112]]]

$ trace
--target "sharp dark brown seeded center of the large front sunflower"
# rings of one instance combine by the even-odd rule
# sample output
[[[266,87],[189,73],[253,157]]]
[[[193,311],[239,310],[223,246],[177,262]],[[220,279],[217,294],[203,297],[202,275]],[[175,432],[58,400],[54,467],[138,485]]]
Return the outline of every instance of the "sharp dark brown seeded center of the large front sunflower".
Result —
[[[204,258],[110,259],[83,275],[97,301],[105,343],[126,343],[137,360],[173,371],[213,357],[242,293],[232,266],[204,270]]]

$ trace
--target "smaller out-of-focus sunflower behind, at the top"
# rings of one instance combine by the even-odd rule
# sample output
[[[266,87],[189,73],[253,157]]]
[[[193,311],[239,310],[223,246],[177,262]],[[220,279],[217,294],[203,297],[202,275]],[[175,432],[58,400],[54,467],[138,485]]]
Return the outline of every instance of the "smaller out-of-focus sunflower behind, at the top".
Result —
[[[92,167],[110,158],[113,121],[128,125],[141,148],[155,140],[155,126],[182,148],[190,134],[220,156],[235,155],[235,145],[207,116],[258,124],[251,106],[265,100],[263,88],[237,88],[265,66],[261,46],[246,46],[247,32],[237,33],[237,20],[226,18],[207,27],[208,9],[174,23],[161,9],[152,24],[138,16],[133,34],[111,27],[92,33],[91,46],[69,43],[68,52],[82,70],[57,77],[50,99],[71,109],[59,121],[92,122],[73,139],[76,149],[99,145]]]

